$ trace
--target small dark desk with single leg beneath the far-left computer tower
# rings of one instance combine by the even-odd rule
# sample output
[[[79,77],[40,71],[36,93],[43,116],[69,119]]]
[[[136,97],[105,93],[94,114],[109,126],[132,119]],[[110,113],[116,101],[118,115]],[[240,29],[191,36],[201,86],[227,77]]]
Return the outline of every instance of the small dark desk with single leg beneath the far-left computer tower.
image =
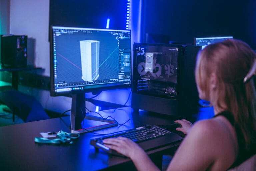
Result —
[[[12,73],[12,87],[16,90],[18,90],[18,82],[19,82],[18,72],[29,71],[29,70],[34,70],[34,69],[42,69],[42,68],[41,67],[35,68],[30,65],[28,65],[26,68],[7,68],[7,67],[0,66],[0,72],[8,71],[8,72]]]

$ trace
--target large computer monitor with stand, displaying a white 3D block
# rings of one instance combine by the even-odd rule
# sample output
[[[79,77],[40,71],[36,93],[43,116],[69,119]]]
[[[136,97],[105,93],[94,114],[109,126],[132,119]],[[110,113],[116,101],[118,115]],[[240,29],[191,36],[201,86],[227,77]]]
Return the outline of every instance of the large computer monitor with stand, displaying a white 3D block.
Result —
[[[131,87],[131,30],[51,26],[50,78],[51,96],[72,97],[72,132],[117,125],[85,115],[85,93]]]

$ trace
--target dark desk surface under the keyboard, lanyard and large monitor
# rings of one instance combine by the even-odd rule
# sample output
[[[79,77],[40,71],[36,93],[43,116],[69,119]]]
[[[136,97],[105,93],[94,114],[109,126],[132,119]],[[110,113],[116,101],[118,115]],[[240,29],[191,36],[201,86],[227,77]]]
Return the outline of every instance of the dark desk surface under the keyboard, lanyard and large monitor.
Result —
[[[99,112],[104,117],[113,116],[120,124],[130,118],[123,126],[116,126],[97,133],[112,133],[120,130],[127,130],[142,124],[164,125],[173,123],[174,118],[170,116],[157,116],[140,111],[135,114],[130,107],[120,108],[108,112]],[[97,116],[92,113],[91,115]],[[90,139],[97,137],[92,133],[83,133],[72,145],[48,145],[37,144],[35,137],[41,137],[40,132],[70,131],[70,117],[54,118],[35,122],[28,122],[10,126],[0,127],[0,170],[61,170],[61,171],[92,171],[92,170],[132,170],[134,167],[129,158],[109,155],[89,144]],[[179,143],[149,151],[149,156],[156,164],[162,162],[162,154],[166,150],[176,148]],[[129,167],[127,167],[129,166]]]

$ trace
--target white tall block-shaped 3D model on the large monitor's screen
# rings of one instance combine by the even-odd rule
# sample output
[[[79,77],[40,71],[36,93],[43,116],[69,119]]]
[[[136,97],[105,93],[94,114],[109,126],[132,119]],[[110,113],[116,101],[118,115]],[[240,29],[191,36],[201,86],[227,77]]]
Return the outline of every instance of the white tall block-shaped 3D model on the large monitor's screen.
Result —
[[[100,41],[81,40],[81,64],[82,79],[84,81],[95,81],[99,78],[99,51]]]

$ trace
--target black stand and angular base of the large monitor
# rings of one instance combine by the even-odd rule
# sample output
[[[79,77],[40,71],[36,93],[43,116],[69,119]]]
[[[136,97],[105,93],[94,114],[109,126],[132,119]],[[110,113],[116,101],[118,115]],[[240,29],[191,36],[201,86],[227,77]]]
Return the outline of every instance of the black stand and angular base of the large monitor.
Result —
[[[72,133],[85,133],[118,125],[114,120],[86,114],[85,94],[72,95],[70,123]]]

